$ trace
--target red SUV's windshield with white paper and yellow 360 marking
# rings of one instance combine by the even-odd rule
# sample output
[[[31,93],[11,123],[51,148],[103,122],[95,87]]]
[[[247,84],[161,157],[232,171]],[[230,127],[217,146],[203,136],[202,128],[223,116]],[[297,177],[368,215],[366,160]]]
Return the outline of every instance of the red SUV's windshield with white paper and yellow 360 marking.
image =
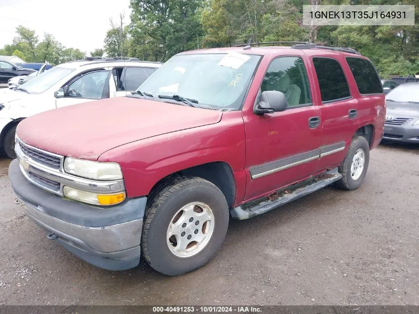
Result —
[[[239,109],[259,59],[238,53],[175,56],[138,90],[154,97],[179,95],[200,105]]]

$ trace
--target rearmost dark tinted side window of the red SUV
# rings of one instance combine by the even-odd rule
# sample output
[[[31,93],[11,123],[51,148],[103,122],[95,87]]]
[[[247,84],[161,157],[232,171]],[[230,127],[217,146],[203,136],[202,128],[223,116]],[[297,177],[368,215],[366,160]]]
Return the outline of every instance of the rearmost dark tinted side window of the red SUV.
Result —
[[[383,92],[377,72],[368,60],[346,57],[346,61],[354,75],[360,94],[381,94]]]

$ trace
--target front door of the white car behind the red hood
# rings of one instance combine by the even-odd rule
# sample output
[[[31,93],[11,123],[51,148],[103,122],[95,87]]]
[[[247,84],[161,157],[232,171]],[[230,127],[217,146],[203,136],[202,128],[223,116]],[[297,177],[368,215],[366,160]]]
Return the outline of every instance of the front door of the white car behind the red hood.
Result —
[[[84,73],[70,82],[64,97],[56,99],[56,106],[60,108],[115,95],[116,87],[112,71],[92,71]]]

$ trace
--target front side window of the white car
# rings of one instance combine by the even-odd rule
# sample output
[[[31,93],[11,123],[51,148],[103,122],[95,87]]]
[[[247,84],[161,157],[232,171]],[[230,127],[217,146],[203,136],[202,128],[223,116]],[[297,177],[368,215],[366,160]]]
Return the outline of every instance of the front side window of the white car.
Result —
[[[108,73],[109,71],[96,71],[81,76],[70,84],[67,96],[101,99],[105,84],[108,83]]]

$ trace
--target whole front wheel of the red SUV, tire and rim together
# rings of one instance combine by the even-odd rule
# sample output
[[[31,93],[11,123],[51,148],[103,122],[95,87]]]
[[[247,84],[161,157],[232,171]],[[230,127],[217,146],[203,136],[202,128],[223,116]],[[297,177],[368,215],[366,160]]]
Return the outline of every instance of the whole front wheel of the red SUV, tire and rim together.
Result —
[[[206,264],[227,233],[226,198],[211,182],[178,177],[159,188],[147,204],[142,252],[166,275],[180,275]]]

